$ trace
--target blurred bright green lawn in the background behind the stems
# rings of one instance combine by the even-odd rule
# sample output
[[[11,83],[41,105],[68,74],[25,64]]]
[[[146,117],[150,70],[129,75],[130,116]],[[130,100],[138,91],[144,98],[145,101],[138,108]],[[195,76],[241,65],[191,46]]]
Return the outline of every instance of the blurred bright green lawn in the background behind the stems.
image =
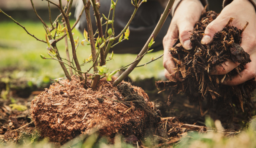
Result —
[[[40,22],[24,21],[19,22],[26,29],[37,38],[45,40],[45,30]],[[71,24],[74,23],[74,20]],[[64,74],[59,66],[58,61],[43,60],[40,54],[47,55],[47,44],[36,41],[35,38],[29,36],[23,28],[13,23],[12,21],[0,22],[0,69],[6,67],[16,67],[19,71],[26,71],[27,77],[43,78],[45,76],[50,78],[63,77]],[[77,50],[79,62],[89,57],[90,47],[82,46],[81,40],[83,36],[77,30],[73,30],[74,38],[79,38],[79,47]],[[63,41],[57,44],[60,54],[65,57],[65,44]],[[71,49],[69,45],[69,49]],[[141,63],[150,61],[152,57],[158,57],[163,51],[156,53],[148,53],[142,59]],[[71,55],[71,53],[70,53]],[[118,69],[124,65],[131,63],[137,55],[135,54],[114,54],[113,60],[106,64],[109,71]],[[86,70],[92,63],[82,67]],[[136,68],[130,75],[133,80],[137,78],[158,77],[158,74],[163,72],[162,60],[159,59],[146,67]],[[24,76],[24,75],[23,75]]]

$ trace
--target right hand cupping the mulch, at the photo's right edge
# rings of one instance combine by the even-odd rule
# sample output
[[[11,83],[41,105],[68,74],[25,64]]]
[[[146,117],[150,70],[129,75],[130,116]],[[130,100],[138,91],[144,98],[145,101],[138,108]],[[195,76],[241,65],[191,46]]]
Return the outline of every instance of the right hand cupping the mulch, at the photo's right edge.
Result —
[[[221,11],[220,15],[213,20],[204,31],[204,37],[201,40],[202,44],[210,43],[213,36],[218,31],[223,30],[230,17],[234,18],[232,25],[242,29],[249,22],[248,26],[242,33],[242,43],[240,46],[246,51],[252,62],[245,65],[245,69],[240,72],[240,75],[235,75],[232,80],[225,80],[225,85],[238,85],[250,80],[256,76],[256,13],[253,4],[249,0],[233,0]],[[227,74],[240,63],[226,61],[221,65],[216,66],[216,70],[211,72],[213,75]]]

